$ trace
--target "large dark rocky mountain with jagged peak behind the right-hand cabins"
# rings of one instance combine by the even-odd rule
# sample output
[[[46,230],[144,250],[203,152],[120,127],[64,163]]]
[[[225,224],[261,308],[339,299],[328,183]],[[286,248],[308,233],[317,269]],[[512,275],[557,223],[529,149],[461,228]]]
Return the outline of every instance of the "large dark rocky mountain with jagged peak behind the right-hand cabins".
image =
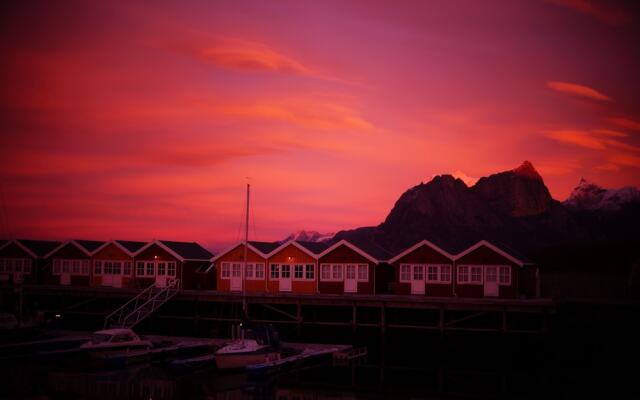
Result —
[[[605,197],[635,198],[631,192],[625,189]],[[625,210],[625,218],[577,212],[554,200],[533,164],[525,161],[480,178],[471,187],[451,175],[436,176],[403,193],[380,225],[341,231],[331,241],[348,239],[397,253],[428,239],[455,253],[487,239],[531,253],[558,244],[633,235],[640,213]]]

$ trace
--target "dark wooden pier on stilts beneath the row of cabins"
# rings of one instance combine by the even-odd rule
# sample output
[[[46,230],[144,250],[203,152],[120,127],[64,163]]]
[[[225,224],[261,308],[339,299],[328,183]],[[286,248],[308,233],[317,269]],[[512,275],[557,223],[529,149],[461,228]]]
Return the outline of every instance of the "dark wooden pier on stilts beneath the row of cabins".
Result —
[[[24,286],[20,296],[32,311],[47,315],[103,318],[139,290]],[[389,330],[546,334],[556,303],[550,299],[436,298],[404,295],[247,294],[249,315],[257,323],[307,328],[340,328],[355,333]],[[153,320],[232,325],[240,321],[239,293],[183,290]]]

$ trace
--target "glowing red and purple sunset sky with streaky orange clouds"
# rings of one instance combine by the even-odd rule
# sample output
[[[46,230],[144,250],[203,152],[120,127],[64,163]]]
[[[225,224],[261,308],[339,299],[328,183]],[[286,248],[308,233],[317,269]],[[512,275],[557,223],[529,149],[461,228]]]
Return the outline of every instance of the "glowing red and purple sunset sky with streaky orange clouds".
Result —
[[[530,160],[640,185],[633,2],[2,5],[0,237],[240,240],[377,225]],[[104,4],[103,4],[104,3]]]

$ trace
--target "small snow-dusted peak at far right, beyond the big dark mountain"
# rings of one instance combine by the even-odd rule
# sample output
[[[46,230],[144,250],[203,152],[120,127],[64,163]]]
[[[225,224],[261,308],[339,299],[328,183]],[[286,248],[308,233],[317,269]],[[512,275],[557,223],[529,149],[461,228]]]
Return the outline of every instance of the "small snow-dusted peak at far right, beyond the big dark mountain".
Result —
[[[582,178],[563,204],[578,210],[617,211],[637,201],[640,201],[640,190],[635,187],[604,189]]]

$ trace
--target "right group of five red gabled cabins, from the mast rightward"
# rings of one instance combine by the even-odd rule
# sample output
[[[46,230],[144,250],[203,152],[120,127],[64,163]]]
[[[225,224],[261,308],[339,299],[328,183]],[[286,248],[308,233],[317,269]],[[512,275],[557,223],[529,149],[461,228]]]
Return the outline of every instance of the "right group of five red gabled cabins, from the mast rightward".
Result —
[[[389,257],[346,240],[331,246],[290,241],[238,244],[212,261],[217,290],[293,293],[414,294],[434,297],[537,297],[538,269],[483,240],[450,254],[423,240]],[[243,275],[243,271],[244,275]]]

